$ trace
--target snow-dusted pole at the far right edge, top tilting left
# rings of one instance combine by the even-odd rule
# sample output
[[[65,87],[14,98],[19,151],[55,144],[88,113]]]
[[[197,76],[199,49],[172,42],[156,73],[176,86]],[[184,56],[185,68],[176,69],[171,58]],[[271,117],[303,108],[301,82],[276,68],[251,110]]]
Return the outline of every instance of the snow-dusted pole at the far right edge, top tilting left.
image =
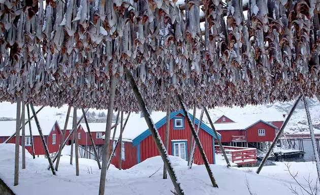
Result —
[[[311,135],[311,143],[312,143],[312,148],[313,148],[313,154],[314,154],[314,157],[315,157],[315,166],[316,166],[316,170],[318,172],[318,180],[320,182],[320,160],[319,160],[319,154],[317,152],[317,145],[316,145],[316,142],[315,142],[315,136],[314,136],[314,132],[313,132],[313,126],[312,126],[311,116],[310,116],[310,112],[309,112],[309,106],[308,106],[308,103],[306,101],[305,96],[303,96],[303,102],[304,102],[304,108],[306,110],[308,124],[309,124],[309,130],[310,130],[310,135]]]

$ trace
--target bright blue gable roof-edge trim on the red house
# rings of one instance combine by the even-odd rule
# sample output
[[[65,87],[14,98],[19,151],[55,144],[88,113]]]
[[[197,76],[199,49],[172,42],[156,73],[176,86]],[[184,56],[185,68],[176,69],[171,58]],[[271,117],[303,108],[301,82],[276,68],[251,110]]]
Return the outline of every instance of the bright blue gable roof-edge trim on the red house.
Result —
[[[181,114],[181,115],[185,116],[183,111],[179,110],[177,112],[170,113],[170,120],[172,118],[174,118],[178,114]],[[193,115],[191,115],[190,113],[189,113],[189,116],[190,116],[190,118],[193,118]],[[166,122],[167,122],[167,116],[163,117],[161,120],[159,120],[157,123],[155,123],[155,127],[158,129],[158,128],[162,127],[164,124],[166,124]],[[199,119],[198,118],[196,118],[196,125],[199,125]],[[200,127],[205,132],[207,132],[209,135],[211,135],[212,137],[216,138],[214,136],[214,134],[213,134],[212,129],[209,126],[207,126],[204,122],[201,122],[201,126]],[[142,134],[140,134],[139,136],[137,136],[135,139],[132,140],[132,145],[136,146],[138,143],[140,143],[142,140],[146,139],[150,135],[151,135],[151,133],[150,133],[150,130],[148,128],[146,131],[144,131]],[[218,139],[221,140],[221,135],[219,133],[218,133],[218,137],[219,137]]]

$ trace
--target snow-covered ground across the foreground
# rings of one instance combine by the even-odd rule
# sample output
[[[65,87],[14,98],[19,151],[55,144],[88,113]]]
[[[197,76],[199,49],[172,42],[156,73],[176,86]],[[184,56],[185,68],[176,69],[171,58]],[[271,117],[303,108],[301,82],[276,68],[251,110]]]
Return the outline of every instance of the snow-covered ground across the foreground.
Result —
[[[265,167],[261,175],[254,173],[256,168],[211,165],[219,185],[219,188],[213,188],[204,166],[195,165],[189,170],[184,160],[173,156],[170,159],[185,194],[249,194],[245,178],[251,191],[257,195],[292,194],[290,184],[295,186],[283,163]],[[0,144],[0,177],[17,195],[97,194],[100,178],[97,163],[90,159],[79,159],[80,176],[75,176],[75,166],[71,166],[69,161],[69,156],[62,156],[57,176],[53,176],[46,169],[47,159],[31,159],[28,154],[26,170],[20,169],[19,185],[14,187],[14,145]],[[223,163],[223,160],[221,161]],[[105,194],[172,194],[170,190],[173,189],[173,185],[170,179],[162,179],[162,166],[159,156],[147,159],[129,170],[119,171],[112,166],[107,173]],[[149,178],[159,168],[161,169]],[[292,163],[292,169],[299,170],[298,176],[301,180],[303,176],[308,177],[309,173],[313,178],[316,174],[315,165],[311,162]]]

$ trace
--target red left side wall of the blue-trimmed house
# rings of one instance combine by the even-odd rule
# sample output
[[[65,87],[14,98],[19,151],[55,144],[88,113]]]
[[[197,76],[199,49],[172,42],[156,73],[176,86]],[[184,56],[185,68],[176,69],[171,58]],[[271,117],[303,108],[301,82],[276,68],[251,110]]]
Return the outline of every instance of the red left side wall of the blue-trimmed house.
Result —
[[[112,147],[112,141],[110,141]],[[112,158],[111,164],[119,168],[119,148],[120,143],[116,148],[116,155]],[[124,142],[125,159],[121,161],[122,169],[129,169],[138,164],[137,146],[133,147],[132,142]]]

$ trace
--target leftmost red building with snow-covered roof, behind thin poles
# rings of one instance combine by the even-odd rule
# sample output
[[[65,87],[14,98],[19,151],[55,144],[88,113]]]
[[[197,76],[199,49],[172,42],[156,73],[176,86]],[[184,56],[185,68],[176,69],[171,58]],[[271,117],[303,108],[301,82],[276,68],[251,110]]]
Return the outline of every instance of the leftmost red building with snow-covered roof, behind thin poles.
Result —
[[[61,130],[57,121],[49,121],[49,120],[40,120],[40,126],[42,128],[42,132],[44,138],[46,140],[49,153],[55,153],[59,149],[59,143],[61,139]],[[16,129],[16,121],[1,121],[0,122],[0,143],[4,143],[14,132]],[[38,132],[37,125],[34,120],[31,120],[31,130],[33,132],[34,139],[34,147],[35,147],[35,155],[45,155],[45,150],[43,148],[43,144],[41,141],[41,137]],[[22,144],[22,132],[20,131],[20,145]],[[16,137],[13,137],[9,140],[8,143],[15,143]],[[29,134],[29,125],[25,125],[25,148],[32,153],[31,149],[31,140]]]

